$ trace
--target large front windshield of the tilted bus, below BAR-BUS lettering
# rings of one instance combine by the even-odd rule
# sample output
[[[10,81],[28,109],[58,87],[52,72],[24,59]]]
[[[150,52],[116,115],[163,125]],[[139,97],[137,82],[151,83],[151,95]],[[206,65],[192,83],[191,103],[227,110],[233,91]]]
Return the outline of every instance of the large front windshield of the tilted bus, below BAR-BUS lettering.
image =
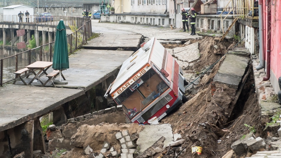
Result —
[[[150,69],[117,96],[115,101],[118,105],[124,105],[125,112],[131,119],[168,88],[169,85]]]

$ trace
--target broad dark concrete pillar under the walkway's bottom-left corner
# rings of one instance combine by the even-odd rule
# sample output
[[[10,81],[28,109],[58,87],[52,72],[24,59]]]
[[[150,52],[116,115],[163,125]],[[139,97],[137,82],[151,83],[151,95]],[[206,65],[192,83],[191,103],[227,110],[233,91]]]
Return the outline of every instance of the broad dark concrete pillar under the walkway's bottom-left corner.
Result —
[[[12,157],[21,152],[25,153],[25,157],[33,157],[33,131],[33,120],[7,130],[11,142],[10,146]]]

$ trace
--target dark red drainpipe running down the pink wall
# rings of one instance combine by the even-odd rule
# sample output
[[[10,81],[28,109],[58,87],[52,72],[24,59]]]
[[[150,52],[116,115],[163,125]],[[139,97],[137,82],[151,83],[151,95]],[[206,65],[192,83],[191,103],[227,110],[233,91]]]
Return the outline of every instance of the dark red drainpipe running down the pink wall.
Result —
[[[267,28],[268,28],[268,33],[267,33],[267,46],[266,46],[266,77],[263,77],[263,81],[267,81],[270,78],[270,53],[271,53],[271,0],[267,0]]]

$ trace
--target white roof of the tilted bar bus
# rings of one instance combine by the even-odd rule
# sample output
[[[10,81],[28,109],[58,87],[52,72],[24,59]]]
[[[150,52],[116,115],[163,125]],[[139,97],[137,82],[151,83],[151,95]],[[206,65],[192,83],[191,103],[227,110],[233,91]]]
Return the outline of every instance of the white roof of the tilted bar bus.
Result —
[[[149,62],[151,48],[155,40],[155,37],[153,37],[146,43],[148,44],[147,51],[144,51],[142,48],[140,48],[123,62],[109,94],[113,93],[117,88],[124,84],[130,77],[136,74],[136,72],[138,72],[145,64]]]

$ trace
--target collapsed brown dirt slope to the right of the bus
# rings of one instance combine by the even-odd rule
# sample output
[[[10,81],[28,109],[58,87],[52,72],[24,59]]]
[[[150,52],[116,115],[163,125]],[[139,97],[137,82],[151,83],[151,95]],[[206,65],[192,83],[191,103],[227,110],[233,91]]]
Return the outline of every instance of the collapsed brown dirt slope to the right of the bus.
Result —
[[[219,60],[233,46],[228,42],[217,44],[218,40],[205,37],[199,41],[201,57],[188,72],[200,72],[206,65]],[[198,85],[199,93],[193,95],[177,112],[162,119],[162,122],[172,124],[174,133],[186,139],[182,147],[186,147],[187,152],[179,157],[196,156],[191,154],[193,145],[203,147],[201,157],[222,157],[234,141],[249,133],[244,124],[255,126],[256,135],[262,133],[260,110],[252,84],[253,73],[247,78],[241,95],[237,95],[240,94],[239,90],[212,81],[220,63],[214,66],[209,75],[202,77]]]

